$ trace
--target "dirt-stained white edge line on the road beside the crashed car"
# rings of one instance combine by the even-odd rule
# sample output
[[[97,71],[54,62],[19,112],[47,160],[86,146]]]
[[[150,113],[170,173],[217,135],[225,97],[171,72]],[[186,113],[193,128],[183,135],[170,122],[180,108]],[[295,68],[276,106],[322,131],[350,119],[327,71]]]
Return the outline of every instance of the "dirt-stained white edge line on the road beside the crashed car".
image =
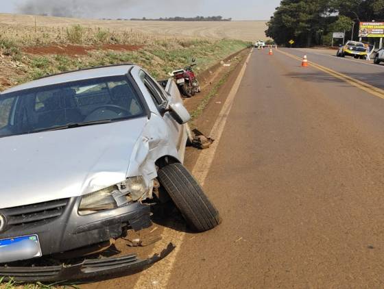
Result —
[[[232,108],[233,101],[235,100],[235,97],[237,95],[237,91],[239,90],[241,80],[243,79],[245,70],[248,66],[248,62],[250,61],[250,57],[252,55],[253,50],[254,49],[252,48],[247,60],[241,68],[239,75],[237,76],[235,84],[230,90],[226,102],[221,108],[221,111],[219,113],[219,116],[217,117],[217,120],[215,121],[215,124],[213,125],[211,134],[209,136],[213,138],[215,142],[209,149],[206,149],[200,153],[199,158],[197,158],[197,162],[193,167],[192,174],[202,186],[204,186],[206,177],[215,158],[215,153],[217,151],[217,147],[219,146],[221,135],[223,134],[224,128],[226,126],[228,115]],[[134,286],[134,289],[167,288],[173,266],[178,257],[178,253],[180,252],[182,242],[184,241],[184,238],[185,236],[187,236],[187,234],[184,232],[173,231],[172,229],[166,228],[164,230],[163,235],[166,235],[167,239],[169,239],[169,236],[171,236],[171,241],[176,246],[176,249],[167,258],[158,262],[157,264],[154,264],[154,266],[148,268],[147,271],[141,273],[141,276],[139,277],[138,281]],[[155,245],[154,253],[161,251],[165,245],[166,244],[163,242],[158,242],[158,244]]]

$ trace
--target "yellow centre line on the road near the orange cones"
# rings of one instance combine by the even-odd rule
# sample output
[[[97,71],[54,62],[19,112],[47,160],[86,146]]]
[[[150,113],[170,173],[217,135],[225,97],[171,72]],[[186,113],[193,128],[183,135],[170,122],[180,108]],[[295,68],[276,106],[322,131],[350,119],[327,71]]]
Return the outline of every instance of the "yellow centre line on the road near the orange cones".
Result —
[[[296,55],[293,55],[291,53],[287,53],[285,51],[278,50],[278,52],[283,53],[284,55],[287,55],[290,58],[293,58],[295,60],[302,60]],[[348,75],[345,75],[343,73],[339,73],[337,71],[333,71],[331,68],[324,67],[320,64],[317,64],[315,62],[309,62],[311,66],[314,68],[317,68],[320,71],[323,71],[324,73],[328,73],[329,75],[332,75],[333,77],[336,77],[337,79],[341,79],[342,81],[345,81],[346,83],[355,86],[357,88],[360,88],[361,90],[364,90],[365,92],[370,93],[371,95],[374,95],[375,97],[380,97],[381,99],[384,99],[384,90],[381,88],[377,88],[376,86],[372,86],[370,84],[367,84],[363,81],[360,81],[358,79],[355,79],[353,77],[350,77]]]

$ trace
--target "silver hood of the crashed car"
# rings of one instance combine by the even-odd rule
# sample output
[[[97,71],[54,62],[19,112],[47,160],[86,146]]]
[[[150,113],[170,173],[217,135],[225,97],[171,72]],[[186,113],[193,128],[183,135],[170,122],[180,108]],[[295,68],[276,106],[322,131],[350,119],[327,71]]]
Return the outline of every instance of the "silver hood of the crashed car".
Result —
[[[127,177],[147,118],[0,138],[0,209],[77,197]]]

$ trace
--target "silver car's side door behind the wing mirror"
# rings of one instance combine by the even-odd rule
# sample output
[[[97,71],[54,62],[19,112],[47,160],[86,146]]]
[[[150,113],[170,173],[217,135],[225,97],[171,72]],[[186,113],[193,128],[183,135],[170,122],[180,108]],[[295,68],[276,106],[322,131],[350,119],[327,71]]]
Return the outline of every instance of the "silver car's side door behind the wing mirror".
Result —
[[[158,108],[158,113],[162,114],[163,105],[171,101],[171,95],[168,95],[165,90],[160,87],[160,85],[152,79],[145,71],[139,73],[141,81],[147,88],[149,95],[151,95],[156,107]],[[175,144],[176,149],[184,149],[182,146],[182,140],[184,138],[185,130],[184,125],[179,125],[176,120],[171,116],[169,112],[165,112],[162,115],[167,127],[169,128],[169,134],[172,142]],[[185,145],[185,144],[184,144]]]

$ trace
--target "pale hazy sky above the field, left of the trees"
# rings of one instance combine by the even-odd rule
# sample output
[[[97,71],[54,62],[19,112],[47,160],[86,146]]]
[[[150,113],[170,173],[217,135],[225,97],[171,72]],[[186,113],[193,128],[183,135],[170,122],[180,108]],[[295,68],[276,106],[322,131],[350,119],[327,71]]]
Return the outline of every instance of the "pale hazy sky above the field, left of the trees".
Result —
[[[0,3],[1,13],[83,18],[221,15],[234,20],[269,20],[280,0],[0,0]]]

